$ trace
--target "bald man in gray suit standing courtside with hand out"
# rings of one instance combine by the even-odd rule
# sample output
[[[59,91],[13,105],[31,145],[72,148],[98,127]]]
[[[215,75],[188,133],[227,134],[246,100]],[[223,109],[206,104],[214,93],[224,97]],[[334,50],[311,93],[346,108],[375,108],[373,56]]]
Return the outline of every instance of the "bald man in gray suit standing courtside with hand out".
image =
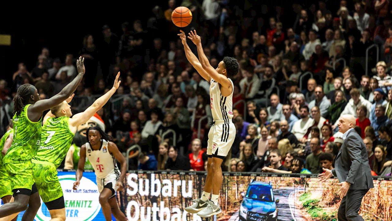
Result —
[[[338,177],[341,204],[338,210],[339,221],[363,221],[358,214],[362,198],[370,188],[373,188],[373,177],[370,172],[366,146],[356,133],[355,118],[346,114],[341,116],[338,123],[339,131],[343,133],[343,145],[335,159],[335,169],[325,169],[319,174],[321,181]]]

